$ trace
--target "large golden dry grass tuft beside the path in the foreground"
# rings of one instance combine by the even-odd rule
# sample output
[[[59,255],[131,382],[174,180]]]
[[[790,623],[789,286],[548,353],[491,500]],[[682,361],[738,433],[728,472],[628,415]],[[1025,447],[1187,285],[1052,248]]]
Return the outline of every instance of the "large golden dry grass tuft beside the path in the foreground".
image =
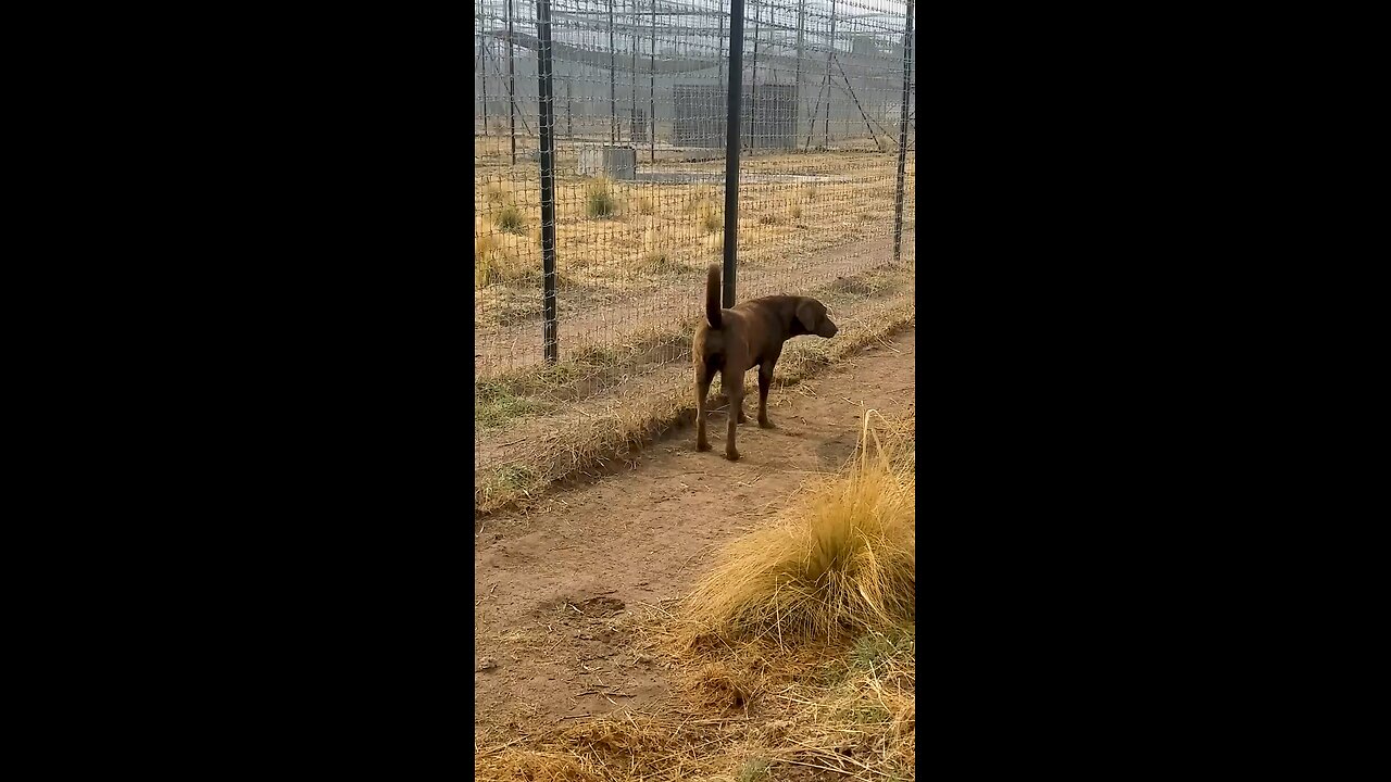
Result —
[[[879,420],[865,413],[861,451],[844,476],[812,486],[786,523],[726,548],[687,598],[701,632],[783,643],[912,619],[915,479],[907,442],[887,430],[881,437]]]

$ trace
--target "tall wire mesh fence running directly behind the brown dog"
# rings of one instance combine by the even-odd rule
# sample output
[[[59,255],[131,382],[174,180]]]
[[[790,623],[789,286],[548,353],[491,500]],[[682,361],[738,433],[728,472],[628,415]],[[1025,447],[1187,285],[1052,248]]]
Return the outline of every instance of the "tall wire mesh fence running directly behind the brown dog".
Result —
[[[477,0],[480,387],[529,412],[690,383],[705,267],[723,256],[730,79],[737,299],[815,295],[843,326],[911,306],[911,8],[746,0],[732,74],[729,0]],[[547,391],[517,395],[527,377]]]

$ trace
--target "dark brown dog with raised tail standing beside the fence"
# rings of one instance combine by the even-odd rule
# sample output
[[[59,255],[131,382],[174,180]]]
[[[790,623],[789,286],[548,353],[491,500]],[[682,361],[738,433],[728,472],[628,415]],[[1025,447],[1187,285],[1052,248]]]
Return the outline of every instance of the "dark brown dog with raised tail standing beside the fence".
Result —
[[[762,296],[739,303],[734,309],[719,306],[719,264],[705,276],[705,323],[696,328],[691,358],[696,363],[696,449],[709,451],[705,441],[705,395],[715,373],[729,394],[729,437],[725,458],[739,459],[734,426],[744,417],[744,373],[758,367],[758,426],[773,429],[768,420],[768,388],[773,384],[773,366],[782,344],[791,337],[815,334],[835,337],[836,324],[826,316],[826,305],[808,296]]]

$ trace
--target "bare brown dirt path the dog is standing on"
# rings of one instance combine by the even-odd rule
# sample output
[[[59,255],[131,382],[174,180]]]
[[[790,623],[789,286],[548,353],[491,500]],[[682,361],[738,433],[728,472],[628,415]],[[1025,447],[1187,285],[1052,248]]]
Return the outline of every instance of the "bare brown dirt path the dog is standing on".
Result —
[[[633,472],[479,523],[474,739],[505,742],[522,726],[658,704],[666,672],[625,616],[683,594],[702,554],[766,523],[812,474],[839,469],[867,408],[911,412],[914,345],[908,327],[775,394],[769,417],[779,429],[740,427],[739,462],[719,456],[725,413],[716,412],[712,452],[696,452],[684,427],[650,447]]]

